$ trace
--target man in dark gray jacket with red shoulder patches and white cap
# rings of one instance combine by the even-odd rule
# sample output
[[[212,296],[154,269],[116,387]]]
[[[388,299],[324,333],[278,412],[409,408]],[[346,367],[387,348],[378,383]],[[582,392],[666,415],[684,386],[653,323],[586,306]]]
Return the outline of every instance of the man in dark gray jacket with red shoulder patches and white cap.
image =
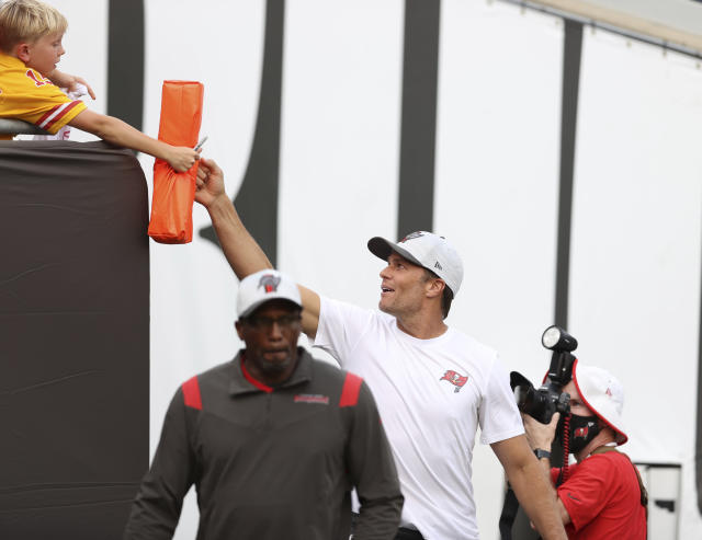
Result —
[[[184,382],[134,503],[125,540],[172,538],[197,487],[199,540],[392,540],[403,495],[363,380],[297,346],[295,283],[264,269],[241,282],[236,329],[246,348]]]

